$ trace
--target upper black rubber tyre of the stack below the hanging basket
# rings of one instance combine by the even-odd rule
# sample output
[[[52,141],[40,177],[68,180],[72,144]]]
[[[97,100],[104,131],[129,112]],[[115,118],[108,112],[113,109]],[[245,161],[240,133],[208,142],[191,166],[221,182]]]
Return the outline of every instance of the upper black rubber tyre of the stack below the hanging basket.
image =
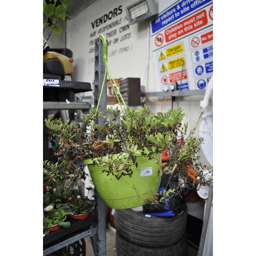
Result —
[[[179,241],[186,231],[187,209],[174,217],[145,217],[132,209],[117,209],[115,226],[121,236],[136,245],[161,247]]]

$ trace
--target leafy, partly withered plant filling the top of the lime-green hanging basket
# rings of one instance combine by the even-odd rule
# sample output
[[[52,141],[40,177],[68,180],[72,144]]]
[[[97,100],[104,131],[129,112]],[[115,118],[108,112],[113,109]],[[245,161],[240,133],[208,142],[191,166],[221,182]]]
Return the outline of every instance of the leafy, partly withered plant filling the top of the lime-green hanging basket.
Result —
[[[184,116],[181,109],[154,114],[150,106],[138,110],[126,107],[121,115],[118,108],[105,111],[100,113],[92,108],[83,116],[81,127],[75,121],[58,125],[46,120],[49,133],[59,142],[55,152],[57,167],[44,162],[44,174],[49,179],[58,179],[61,175],[66,184],[80,179],[83,168],[79,166],[82,162],[84,167],[88,163],[83,161],[86,159],[105,166],[103,172],[118,180],[126,175],[131,177],[137,157],[145,154],[151,159],[177,139]],[[97,123],[98,119],[101,123]]]

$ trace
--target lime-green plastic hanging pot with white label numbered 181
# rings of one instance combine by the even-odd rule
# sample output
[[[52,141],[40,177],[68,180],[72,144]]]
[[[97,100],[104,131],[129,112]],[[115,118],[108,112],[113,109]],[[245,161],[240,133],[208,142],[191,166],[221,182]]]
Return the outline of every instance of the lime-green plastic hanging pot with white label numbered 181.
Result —
[[[122,176],[117,180],[112,174],[102,173],[105,166],[94,165],[93,159],[84,160],[99,196],[113,209],[134,208],[146,204],[146,199],[153,199],[161,181],[160,162],[159,153],[150,160],[147,155],[139,156],[138,167],[132,167],[132,177]]]

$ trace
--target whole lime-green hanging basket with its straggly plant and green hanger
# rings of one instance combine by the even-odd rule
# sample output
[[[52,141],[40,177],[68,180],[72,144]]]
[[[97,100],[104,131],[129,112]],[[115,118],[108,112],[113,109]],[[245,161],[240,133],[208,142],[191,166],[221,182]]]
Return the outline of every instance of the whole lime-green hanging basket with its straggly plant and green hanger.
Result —
[[[111,77],[106,58],[105,67]],[[112,78],[116,93],[113,82]],[[120,93],[119,96],[122,99]],[[182,125],[185,113],[181,108],[152,113],[150,106],[130,108],[123,101],[121,113],[112,107],[102,113],[98,111],[99,103],[100,99],[97,107],[83,116],[82,124],[45,120],[49,134],[59,145],[55,151],[58,162],[44,163],[44,174],[49,179],[62,176],[66,184],[75,183],[86,178],[87,165],[98,194],[114,209],[157,203],[163,173],[177,175],[186,183],[189,169],[194,166],[193,186],[209,182],[202,169],[211,170],[200,163],[197,155],[203,139],[186,137],[187,124]],[[165,150],[172,158],[170,166],[161,161]],[[164,200],[180,194],[184,183],[173,185]]]

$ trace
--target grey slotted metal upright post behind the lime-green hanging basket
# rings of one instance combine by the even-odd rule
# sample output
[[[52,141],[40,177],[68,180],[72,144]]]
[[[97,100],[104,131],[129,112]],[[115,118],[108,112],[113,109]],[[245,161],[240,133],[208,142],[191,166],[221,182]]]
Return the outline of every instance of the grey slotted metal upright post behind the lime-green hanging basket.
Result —
[[[102,95],[100,98],[99,111],[105,113],[106,109],[106,79],[103,85],[105,65],[103,62],[103,41],[100,38],[95,40],[95,60],[94,60],[94,108],[96,108],[101,87],[103,86]],[[101,120],[96,120],[100,123]],[[95,189],[95,215],[96,222],[94,227],[98,227],[97,232],[91,237],[91,242],[95,256],[106,255],[106,204]]]

